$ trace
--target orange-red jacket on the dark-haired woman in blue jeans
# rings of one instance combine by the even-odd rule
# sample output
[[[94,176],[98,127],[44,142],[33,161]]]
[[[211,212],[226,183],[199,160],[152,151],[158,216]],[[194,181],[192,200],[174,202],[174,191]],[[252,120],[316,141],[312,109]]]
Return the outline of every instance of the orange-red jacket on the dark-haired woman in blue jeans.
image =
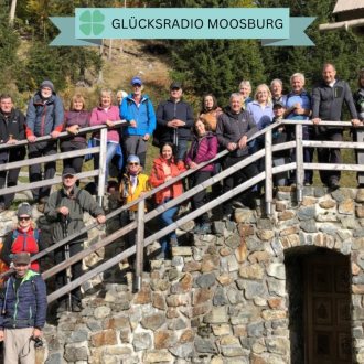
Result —
[[[158,188],[159,185],[163,184],[165,182],[165,174],[163,171],[163,162],[165,162],[165,160],[162,157],[156,158],[153,161],[153,168],[149,178],[149,183],[153,186],[153,188]],[[179,161],[176,164],[174,163],[174,161],[172,161],[170,163],[170,168],[171,168],[171,176],[176,176],[179,174],[181,174],[182,172],[185,171],[185,167],[184,163],[182,161]],[[183,185],[182,185],[182,181],[175,182],[173,183],[170,188],[171,189],[171,197],[178,197],[179,195],[181,195],[183,193]],[[159,191],[156,193],[156,202],[158,204],[163,203],[163,196],[164,193],[168,189],[164,189],[162,191]]]

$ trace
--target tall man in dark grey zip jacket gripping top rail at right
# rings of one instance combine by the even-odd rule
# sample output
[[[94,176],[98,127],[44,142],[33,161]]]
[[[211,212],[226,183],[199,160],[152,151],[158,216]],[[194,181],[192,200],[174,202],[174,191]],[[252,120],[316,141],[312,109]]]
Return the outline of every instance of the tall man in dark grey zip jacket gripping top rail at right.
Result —
[[[312,90],[312,121],[318,140],[342,141],[343,129],[325,127],[324,120],[340,121],[342,119],[342,107],[345,101],[353,126],[360,125],[352,92],[345,81],[336,78],[336,69],[333,64],[326,63],[322,69],[323,81]],[[318,160],[320,163],[341,163],[339,148],[318,148]],[[340,188],[340,171],[320,171],[322,183],[330,189]]]

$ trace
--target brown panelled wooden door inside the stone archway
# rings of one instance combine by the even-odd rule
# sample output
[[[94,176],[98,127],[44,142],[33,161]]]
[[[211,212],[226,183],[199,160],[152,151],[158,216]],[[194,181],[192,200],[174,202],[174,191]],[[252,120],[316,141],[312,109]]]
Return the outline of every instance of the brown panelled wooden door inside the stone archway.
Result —
[[[350,364],[350,260],[330,253],[306,259],[304,268],[306,363]]]

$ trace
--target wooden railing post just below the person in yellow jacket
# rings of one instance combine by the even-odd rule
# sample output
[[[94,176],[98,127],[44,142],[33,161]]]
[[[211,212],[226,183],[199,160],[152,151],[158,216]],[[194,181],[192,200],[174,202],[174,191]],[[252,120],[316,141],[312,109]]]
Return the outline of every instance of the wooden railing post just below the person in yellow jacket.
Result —
[[[137,221],[137,257],[136,257],[136,277],[133,281],[133,290],[140,291],[141,276],[143,271],[143,255],[144,255],[144,200],[138,204],[138,221]]]

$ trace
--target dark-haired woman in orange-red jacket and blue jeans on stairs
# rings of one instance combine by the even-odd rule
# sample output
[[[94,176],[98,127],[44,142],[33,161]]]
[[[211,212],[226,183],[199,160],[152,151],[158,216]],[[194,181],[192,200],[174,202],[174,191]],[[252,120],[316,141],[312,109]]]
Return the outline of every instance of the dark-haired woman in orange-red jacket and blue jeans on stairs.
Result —
[[[185,171],[183,161],[174,162],[174,146],[171,142],[163,142],[160,148],[159,158],[154,159],[149,183],[151,186],[157,188],[172,178]],[[162,205],[168,201],[178,197],[183,193],[182,181],[175,182],[169,188],[156,193],[156,202]],[[173,217],[179,207],[174,206],[164,211],[160,215],[162,227],[173,224]],[[169,233],[161,238],[161,254],[159,258],[164,259],[170,251],[171,246],[178,246],[175,232]]]

